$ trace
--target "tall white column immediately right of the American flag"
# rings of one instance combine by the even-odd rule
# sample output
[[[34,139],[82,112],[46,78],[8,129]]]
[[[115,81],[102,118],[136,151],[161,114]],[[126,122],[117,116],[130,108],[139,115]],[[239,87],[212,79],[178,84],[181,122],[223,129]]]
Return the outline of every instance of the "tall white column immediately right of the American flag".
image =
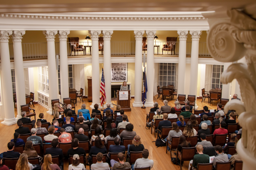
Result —
[[[107,104],[110,104],[110,108],[113,108],[111,103],[111,51],[110,51],[110,39],[113,31],[102,31],[104,39],[104,77],[105,77],[105,93],[106,93],[106,104],[104,108],[107,108]]]

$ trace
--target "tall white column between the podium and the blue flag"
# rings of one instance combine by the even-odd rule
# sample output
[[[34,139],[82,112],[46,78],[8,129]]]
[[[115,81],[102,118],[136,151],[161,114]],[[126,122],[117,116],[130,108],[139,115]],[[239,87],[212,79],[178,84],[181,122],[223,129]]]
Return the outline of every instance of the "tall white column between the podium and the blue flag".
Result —
[[[133,107],[143,106],[141,102],[142,91],[142,37],[144,31],[134,31],[135,35],[135,78],[134,78],[134,102]]]

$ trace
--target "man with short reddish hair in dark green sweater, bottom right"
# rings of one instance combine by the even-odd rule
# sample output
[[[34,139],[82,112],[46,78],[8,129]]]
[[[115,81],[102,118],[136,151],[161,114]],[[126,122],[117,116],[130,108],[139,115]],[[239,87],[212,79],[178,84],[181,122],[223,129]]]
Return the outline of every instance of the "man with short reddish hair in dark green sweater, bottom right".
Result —
[[[204,154],[203,150],[204,148],[202,145],[196,145],[198,154],[195,154],[193,160],[190,160],[188,169],[190,169],[191,166],[197,168],[197,164],[208,164],[210,162],[209,155]]]

